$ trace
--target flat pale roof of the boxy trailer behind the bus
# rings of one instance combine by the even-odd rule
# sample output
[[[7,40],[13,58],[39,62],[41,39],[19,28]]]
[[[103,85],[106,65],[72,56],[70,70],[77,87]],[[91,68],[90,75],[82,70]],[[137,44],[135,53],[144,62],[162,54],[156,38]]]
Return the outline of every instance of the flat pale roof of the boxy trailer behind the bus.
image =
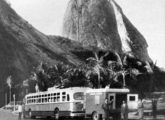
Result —
[[[86,91],[86,93],[100,93],[100,92],[112,92],[112,93],[129,93],[130,90],[127,88],[121,88],[121,89],[116,89],[116,88],[99,88],[99,89],[89,89]]]

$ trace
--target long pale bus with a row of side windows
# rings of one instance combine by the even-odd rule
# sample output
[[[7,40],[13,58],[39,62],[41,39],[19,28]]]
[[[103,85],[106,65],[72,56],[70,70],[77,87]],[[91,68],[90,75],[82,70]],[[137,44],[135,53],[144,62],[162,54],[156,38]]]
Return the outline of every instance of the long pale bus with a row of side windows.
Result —
[[[84,95],[90,88],[49,88],[25,96],[24,117],[84,117]]]

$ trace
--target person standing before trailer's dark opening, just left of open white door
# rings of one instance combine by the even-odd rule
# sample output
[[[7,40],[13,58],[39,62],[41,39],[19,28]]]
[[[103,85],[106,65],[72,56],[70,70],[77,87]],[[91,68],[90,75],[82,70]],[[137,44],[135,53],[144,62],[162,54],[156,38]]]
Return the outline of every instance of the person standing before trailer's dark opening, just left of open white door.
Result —
[[[128,120],[128,105],[125,101],[121,105],[121,119]]]

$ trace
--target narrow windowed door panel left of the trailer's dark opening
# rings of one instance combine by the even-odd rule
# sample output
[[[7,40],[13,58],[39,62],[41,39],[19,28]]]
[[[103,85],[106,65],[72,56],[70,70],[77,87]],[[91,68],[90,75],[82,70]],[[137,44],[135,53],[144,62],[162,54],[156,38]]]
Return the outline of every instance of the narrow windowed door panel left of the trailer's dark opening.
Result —
[[[115,97],[115,94],[114,93],[108,93],[108,102],[110,103],[110,107],[112,109],[116,109],[116,105],[115,105],[115,102],[116,101],[116,97]]]

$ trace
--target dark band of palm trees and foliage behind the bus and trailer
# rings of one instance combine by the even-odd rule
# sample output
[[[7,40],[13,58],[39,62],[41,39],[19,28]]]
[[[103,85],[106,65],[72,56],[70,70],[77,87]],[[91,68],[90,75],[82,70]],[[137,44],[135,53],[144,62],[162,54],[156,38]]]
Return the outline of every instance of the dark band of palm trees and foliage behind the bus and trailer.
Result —
[[[49,87],[127,87],[139,93],[155,89],[151,85],[155,82],[154,67],[129,55],[122,58],[117,53],[113,55],[116,57],[114,60],[109,59],[112,57],[110,52],[98,52],[78,66],[64,63],[52,66],[41,62],[29,79],[23,82],[23,88],[35,92],[36,86],[39,91],[46,91]],[[145,85],[150,87],[146,88]]]

